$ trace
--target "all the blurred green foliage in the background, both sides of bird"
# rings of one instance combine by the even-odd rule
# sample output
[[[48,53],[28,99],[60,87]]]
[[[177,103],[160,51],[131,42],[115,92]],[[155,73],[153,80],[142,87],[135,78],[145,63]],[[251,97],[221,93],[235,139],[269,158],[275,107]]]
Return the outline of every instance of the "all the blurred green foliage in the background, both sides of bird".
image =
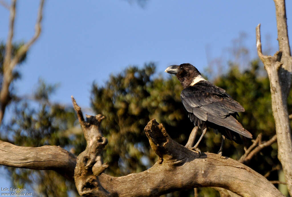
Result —
[[[270,87],[267,76],[261,73],[258,61],[251,62],[244,71],[230,64],[228,72],[214,79],[214,83],[244,106],[246,111],[240,114],[239,121],[253,137],[263,133],[263,140],[269,140],[275,134]],[[1,126],[5,127],[5,136],[16,145],[58,145],[78,155],[85,149],[86,142],[73,108],[50,102],[56,85],[47,85],[41,80],[39,84],[32,100],[14,101],[11,122]],[[168,134],[178,143],[184,145],[187,142],[193,124],[180,101],[181,90],[182,86],[174,76],[164,79],[155,75],[154,63],[145,64],[142,68],[130,66],[120,74],[111,75],[104,86],[93,83],[92,108],[96,114],[106,116],[101,124],[109,142],[103,153],[105,162],[109,164],[106,173],[121,176],[141,172],[153,165],[157,156],[144,133],[145,125],[152,118],[163,123]],[[289,97],[289,109],[291,104]],[[210,130],[200,148],[216,153],[220,142],[221,136]],[[251,141],[247,140],[247,144]],[[239,159],[243,153],[243,145],[226,140],[224,156]],[[276,144],[263,149],[248,163],[263,175],[278,164]],[[68,196],[68,192],[76,192],[74,184],[52,171],[8,170],[15,186],[30,186],[39,196]],[[278,173],[272,172],[268,179],[277,180]],[[218,196],[209,188],[198,191],[199,196]],[[193,192],[176,191],[168,196],[192,196]]]

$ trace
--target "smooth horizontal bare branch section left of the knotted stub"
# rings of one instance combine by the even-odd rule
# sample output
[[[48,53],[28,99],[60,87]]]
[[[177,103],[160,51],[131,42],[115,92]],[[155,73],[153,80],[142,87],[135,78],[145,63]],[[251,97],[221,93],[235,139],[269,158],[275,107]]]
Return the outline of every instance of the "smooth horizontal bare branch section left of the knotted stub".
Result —
[[[74,180],[76,157],[57,146],[19,147],[0,141],[0,165],[34,170],[55,170]]]

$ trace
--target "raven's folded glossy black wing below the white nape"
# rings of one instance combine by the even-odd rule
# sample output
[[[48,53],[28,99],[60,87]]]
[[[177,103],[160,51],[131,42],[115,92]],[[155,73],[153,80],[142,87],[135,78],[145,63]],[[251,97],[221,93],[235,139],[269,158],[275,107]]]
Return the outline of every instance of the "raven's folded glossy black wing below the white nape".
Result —
[[[244,111],[244,108],[222,88],[208,81],[200,81],[194,86],[183,89],[180,97],[185,109],[199,119],[252,138],[251,133],[233,117],[237,112]]]

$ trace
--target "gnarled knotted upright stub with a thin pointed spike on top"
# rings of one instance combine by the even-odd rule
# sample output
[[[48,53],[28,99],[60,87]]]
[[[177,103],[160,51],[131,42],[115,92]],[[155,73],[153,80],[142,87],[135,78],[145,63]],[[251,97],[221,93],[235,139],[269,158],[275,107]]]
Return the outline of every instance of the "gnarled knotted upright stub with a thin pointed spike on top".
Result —
[[[98,176],[108,167],[103,163],[101,152],[107,144],[107,139],[100,131],[100,122],[105,117],[86,115],[83,118],[81,108],[72,98],[74,110],[77,113],[86,140],[86,149],[77,157],[74,170],[74,180],[78,193],[81,196],[110,196],[100,184]]]

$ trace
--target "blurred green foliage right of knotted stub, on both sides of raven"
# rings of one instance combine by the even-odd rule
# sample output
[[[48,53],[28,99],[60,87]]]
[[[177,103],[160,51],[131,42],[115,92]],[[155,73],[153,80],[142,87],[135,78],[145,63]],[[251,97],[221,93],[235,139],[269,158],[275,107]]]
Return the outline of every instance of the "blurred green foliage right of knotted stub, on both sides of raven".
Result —
[[[171,137],[183,145],[192,130],[193,125],[180,101],[180,83],[175,77],[154,77],[154,70],[153,63],[145,64],[142,69],[131,66],[121,74],[110,76],[105,86],[92,86],[92,107],[96,113],[106,116],[102,128],[109,144],[104,158],[110,166],[107,173],[114,176],[140,172],[156,161],[143,131],[150,119],[155,118],[163,123]],[[217,77],[214,83],[244,106],[246,111],[240,114],[239,121],[253,137],[263,133],[263,140],[269,140],[275,129],[270,84],[262,71],[258,60],[251,62],[244,71],[240,71],[238,65],[230,64],[228,72]],[[291,99],[288,103],[290,107]],[[200,148],[202,151],[217,152],[220,142],[221,136],[209,131]],[[251,140],[247,140],[246,144],[251,145]],[[226,140],[223,150],[224,156],[234,159],[244,154],[243,145],[230,140]],[[276,144],[263,149],[248,163],[263,175],[278,164]],[[271,173],[268,178],[277,180],[277,173]],[[199,191],[201,195],[213,193],[208,189]],[[176,194],[173,193],[173,196]]]

